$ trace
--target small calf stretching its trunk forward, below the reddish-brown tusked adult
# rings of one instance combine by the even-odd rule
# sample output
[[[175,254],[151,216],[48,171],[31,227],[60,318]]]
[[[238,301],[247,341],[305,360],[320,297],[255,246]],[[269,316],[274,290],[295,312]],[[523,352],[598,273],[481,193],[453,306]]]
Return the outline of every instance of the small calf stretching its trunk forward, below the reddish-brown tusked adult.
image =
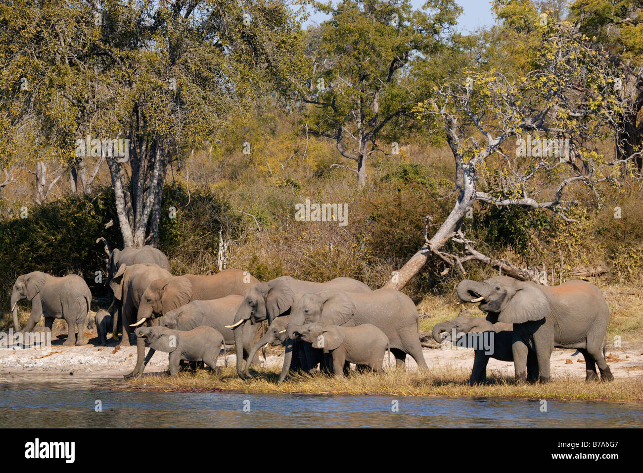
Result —
[[[223,335],[215,328],[201,326],[188,331],[167,327],[140,327],[136,337],[145,339],[151,348],[170,353],[170,375],[179,372],[181,360],[203,361],[210,369],[217,366]]]

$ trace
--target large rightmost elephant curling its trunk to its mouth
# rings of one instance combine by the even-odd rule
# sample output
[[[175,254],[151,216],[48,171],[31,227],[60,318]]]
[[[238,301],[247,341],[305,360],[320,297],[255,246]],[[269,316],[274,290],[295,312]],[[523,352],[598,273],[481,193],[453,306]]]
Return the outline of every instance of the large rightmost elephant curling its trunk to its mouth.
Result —
[[[601,290],[586,281],[568,281],[560,286],[540,286],[496,276],[485,281],[458,284],[458,297],[465,302],[483,297],[480,309],[491,322],[513,324],[512,355],[516,379],[527,379],[527,359],[535,353],[541,382],[550,379],[549,361],[554,347],[580,351],[586,364],[586,380],[614,376],[602,354],[610,310]]]

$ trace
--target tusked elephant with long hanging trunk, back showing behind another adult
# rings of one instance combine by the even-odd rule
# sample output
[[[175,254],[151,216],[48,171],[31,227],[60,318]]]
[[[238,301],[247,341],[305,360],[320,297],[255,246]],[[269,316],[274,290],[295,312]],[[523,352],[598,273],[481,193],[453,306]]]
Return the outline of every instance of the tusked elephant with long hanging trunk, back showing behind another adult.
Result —
[[[282,276],[272,279],[267,283],[254,284],[239,307],[239,311],[235,315],[234,329],[235,329],[235,347],[237,349],[237,375],[241,378],[246,377],[243,368],[243,357],[241,356],[244,349],[241,340],[242,327],[250,321],[251,324],[257,324],[262,320],[268,320],[271,324],[276,317],[288,315],[291,306],[295,301],[296,294],[318,293],[322,291],[350,291],[356,293],[370,292],[370,288],[364,284],[352,279],[350,277],[336,277],[331,281],[325,283],[311,283],[310,281],[302,281],[294,279],[290,276]],[[285,343],[285,352],[288,359],[288,366],[291,365],[294,347],[293,340],[287,340]],[[304,350],[308,348],[299,348],[299,358],[305,358]],[[309,369],[309,363],[302,363],[304,369]],[[310,363],[312,364],[312,362]]]

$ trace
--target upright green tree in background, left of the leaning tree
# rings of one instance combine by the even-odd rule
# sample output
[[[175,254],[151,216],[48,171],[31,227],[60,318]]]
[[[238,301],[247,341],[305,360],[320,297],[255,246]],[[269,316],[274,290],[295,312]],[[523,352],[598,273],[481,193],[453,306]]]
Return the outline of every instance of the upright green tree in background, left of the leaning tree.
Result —
[[[334,166],[354,172],[363,186],[368,158],[390,151],[378,144],[385,127],[413,118],[413,106],[424,98],[422,86],[431,77],[410,75],[410,65],[444,46],[462,9],[451,0],[428,1],[424,10],[413,10],[409,0],[316,5],[332,18],[307,37],[309,131],[333,140],[341,156],[356,162],[356,169]]]

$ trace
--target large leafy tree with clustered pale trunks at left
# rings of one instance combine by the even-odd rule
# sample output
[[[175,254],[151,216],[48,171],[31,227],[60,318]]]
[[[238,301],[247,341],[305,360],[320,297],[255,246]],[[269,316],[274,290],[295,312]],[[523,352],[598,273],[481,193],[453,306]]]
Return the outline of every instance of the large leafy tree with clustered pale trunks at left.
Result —
[[[277,0],[17,4],[2,17],[6,122],[34,117],[66,169],[107,163],[124,246],[156,245],[168,165],[306,75],[298,14]]]

